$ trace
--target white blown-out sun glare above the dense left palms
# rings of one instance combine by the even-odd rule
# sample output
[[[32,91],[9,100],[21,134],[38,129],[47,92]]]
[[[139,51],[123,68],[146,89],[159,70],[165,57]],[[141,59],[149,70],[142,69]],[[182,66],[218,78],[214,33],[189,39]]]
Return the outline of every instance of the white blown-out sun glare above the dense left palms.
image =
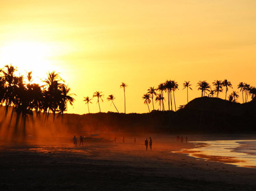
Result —
[[[41,85],[41,78],[45,78],[46,72],[51,69],[48,60],[50,49],[50,46],[39,42],[9,43],[0,48],[0,63],[18,67],[17,72],[24,76],[33,71],[33,82]]]

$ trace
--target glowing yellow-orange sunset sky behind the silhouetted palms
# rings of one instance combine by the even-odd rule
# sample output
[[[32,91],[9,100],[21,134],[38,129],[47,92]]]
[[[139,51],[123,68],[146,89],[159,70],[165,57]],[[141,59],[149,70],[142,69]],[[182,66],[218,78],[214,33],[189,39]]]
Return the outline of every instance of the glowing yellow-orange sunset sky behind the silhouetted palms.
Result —
[[[228,79],[228,95],[239,82],[256,86],[255,10],[254,0],[0,0],[0,67],[32,70],[37,83],[59,72],[76,94],[68,113],[88,113],[83,97],[95,91],[104,94],[102,112],[115,111],[110,94],[124,112],[121,82],[126,113],[148,112],[143,94],[165,80],[178,82],[180,106],[185,80],[189,100],[201,95],[199,80]]]

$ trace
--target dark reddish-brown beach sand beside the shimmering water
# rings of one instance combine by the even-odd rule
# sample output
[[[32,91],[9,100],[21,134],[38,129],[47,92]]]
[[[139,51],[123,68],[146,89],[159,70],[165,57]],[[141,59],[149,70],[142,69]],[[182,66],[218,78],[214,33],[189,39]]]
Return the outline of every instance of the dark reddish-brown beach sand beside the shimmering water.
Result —
[[[152,138],[152,151],[145,151],[144,137],[84,147],[70,139],[1,140],[0,190],[255,190],[256,169],[172,153],[193,147],[175,135]]]

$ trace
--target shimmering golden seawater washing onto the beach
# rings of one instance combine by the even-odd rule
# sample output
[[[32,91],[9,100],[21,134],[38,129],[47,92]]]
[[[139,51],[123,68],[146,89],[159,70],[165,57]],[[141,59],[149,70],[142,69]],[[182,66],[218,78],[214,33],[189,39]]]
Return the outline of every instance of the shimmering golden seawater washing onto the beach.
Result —
[[[198,158],[256,168],[256,140],[215,140],[193,142],[196,147],[182,153]]]

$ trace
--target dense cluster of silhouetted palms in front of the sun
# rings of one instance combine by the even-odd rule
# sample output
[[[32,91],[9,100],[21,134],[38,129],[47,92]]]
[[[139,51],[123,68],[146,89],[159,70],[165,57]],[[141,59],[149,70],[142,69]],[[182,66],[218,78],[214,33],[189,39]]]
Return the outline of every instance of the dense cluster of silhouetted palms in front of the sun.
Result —
[[[67,106],[72,106],[75,94],[70,93],[70,87],[59,76],[56,71],[48,72],[44,85],[33,83],[32,71],[26,76],[15,75],[17,67],[5,65],[0,69],[0,106],[5,106],[5,118],[11,109],[11,118],[9,126],[16,113],[15,130],[19,125],[20,117],[23,122],[24,134],[26,131],[26,119],[33,117],[33,111],[36,119],[41,118],[41,113],[48,120],[49,113],[53,113],[53,120],[58,116],[63,116],[67,111]]]

